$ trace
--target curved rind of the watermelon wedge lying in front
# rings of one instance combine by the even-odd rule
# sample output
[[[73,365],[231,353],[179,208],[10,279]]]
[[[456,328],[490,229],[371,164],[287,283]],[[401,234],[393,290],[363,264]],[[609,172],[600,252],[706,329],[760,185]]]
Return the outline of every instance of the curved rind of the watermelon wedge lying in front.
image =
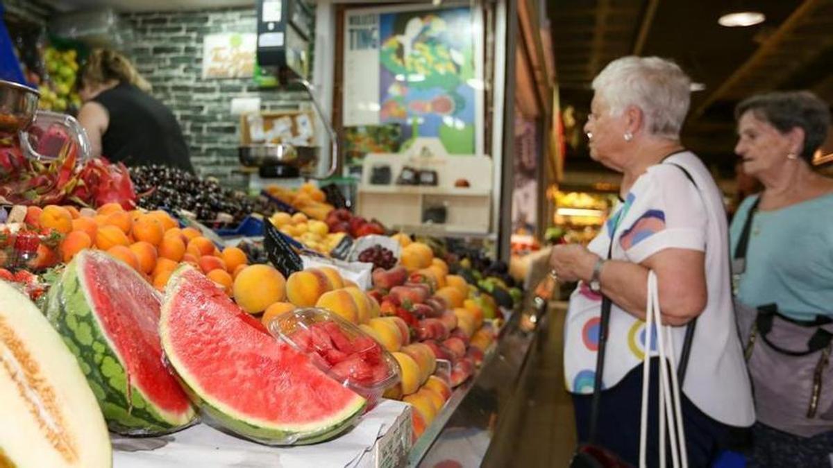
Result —
[[[272,421],[263,421],[256,417],[242,415],[233,408],[217,401],[209,392],[202,389],[197,383],[197,377],[192,376],[182,359],[177,356],[177,351],[170,340],[170,328],[167,317],[171,315],[172,303],[175,300],[180,286],[184,281],[183,273],[192,270],[190,266],[180,266],[173,272],[168,280],[165,294],[165,301],[162,303],[162,316],[159,320],[159,334],[162,337],[162,349],[165,352],[166,360],[176,372],[182,386],[197,406],[209,416],[209,422],[214,426],[231,431],[239,436],[246,437],[267,445],[307,445],[327,441],[338,436],[352,427],[364,413],[367,401],[362,396],[346,405],[344,409],[324,421],[312,421],[302,425],[282,424],[276,426]]]

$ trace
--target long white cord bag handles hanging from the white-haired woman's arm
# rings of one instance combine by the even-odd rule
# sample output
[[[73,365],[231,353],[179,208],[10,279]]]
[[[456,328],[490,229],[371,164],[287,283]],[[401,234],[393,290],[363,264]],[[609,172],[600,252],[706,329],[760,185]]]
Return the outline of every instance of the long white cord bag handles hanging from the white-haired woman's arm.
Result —
[[[666,466],[666,424],[671,442],[671,463],[674,468],[687,468],[686,433],[683,430],[680,403],[680,382],[677,380],[674,361],[674,341],[671,326],[662,325],[660,314],[660,297],[656,286],[656,274],[648,272],[648,295],[646,304],[645,349],[653,349],[653,326],[656,323],[656,349],[660,357],[660,391],[659,391],[659,452],[660,466]],[[663,365],[667,363],[666,365]],[[642,362],[642,409],[639,435],[639,466],[646,467],[646,444],[648,438],[648,386],[651,381],[651,353],[646,352]]]

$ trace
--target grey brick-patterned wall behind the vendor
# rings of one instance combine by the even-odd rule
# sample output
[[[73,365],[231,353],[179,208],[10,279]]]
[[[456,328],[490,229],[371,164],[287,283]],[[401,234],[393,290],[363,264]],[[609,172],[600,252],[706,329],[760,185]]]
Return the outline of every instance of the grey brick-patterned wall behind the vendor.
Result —
[[[131,50],[138,71],[151,83],[152,94],[176,114],[197,172],[239,182],[239,116],[232,116],[232,97],[259,96],[262,110],[297,108],[303,92],[259,90],[251,78],[202,79],[202,39],[213,32],[255,32],[253,8],[211,11],[126,13],[135,32]]]

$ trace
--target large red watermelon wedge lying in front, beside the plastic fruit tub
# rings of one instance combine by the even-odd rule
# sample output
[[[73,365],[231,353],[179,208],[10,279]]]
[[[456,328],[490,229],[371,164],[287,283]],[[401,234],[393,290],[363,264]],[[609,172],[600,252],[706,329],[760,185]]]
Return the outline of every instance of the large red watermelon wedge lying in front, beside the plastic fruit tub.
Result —
[[[202,411],[254,441],[325,441],[352,426],[367,404],[190,266],[168,281],[159,333]]]

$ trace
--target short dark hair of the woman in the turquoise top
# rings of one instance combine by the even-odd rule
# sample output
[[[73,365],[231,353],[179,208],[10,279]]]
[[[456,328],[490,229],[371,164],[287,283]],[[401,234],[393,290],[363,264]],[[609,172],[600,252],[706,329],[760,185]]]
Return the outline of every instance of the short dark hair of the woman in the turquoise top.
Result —
[[[781,133],[796,127],[804,130],[800,156],[806,162],[813,161],[813,154],[824,144],[831,124],[830,107],[809,91],[767,92],[747,97],[735,107],[735,118],[740,120],[746,112],[769,122]]]

